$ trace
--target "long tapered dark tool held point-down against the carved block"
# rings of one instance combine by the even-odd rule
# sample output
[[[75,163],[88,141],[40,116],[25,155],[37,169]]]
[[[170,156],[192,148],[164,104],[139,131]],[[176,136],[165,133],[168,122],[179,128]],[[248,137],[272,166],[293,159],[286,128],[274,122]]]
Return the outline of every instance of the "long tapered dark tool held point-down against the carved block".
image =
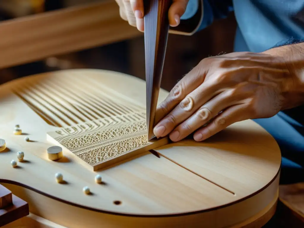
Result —
[[[146,0],[144,2],[147,128],[149,140],[154,136],[153,127],[156,124],[154,123],[155,111],[168,40],[168,11],[170,5],[171,0]]]

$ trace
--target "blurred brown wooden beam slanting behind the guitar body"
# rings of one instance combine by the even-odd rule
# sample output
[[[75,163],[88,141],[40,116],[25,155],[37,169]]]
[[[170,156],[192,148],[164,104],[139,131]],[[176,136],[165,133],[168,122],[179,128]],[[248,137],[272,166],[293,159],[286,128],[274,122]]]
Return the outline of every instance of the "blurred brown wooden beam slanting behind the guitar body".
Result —
[[[0,68],[143,35],[112,1],[69,7],[0,23]]]

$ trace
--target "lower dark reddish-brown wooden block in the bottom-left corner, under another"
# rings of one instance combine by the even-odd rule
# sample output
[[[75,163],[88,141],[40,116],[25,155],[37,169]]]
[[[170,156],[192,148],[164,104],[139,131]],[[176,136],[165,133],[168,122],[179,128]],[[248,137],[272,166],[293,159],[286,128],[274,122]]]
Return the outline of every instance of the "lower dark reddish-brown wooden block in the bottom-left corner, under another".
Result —
[[[12,195],[12,205],[0,209],[0,227],[27,215],[29,215],[28,203]]]

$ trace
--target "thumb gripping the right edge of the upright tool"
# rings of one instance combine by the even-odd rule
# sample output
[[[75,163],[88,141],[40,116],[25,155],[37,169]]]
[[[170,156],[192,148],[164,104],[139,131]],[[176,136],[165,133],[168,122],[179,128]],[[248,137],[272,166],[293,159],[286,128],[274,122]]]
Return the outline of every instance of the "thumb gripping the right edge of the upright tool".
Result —
[[[168,13],[170,26],[175,27],[179,25],[181,16],[183,16],[186,11],[188,2],[189,0],[173,0]]]

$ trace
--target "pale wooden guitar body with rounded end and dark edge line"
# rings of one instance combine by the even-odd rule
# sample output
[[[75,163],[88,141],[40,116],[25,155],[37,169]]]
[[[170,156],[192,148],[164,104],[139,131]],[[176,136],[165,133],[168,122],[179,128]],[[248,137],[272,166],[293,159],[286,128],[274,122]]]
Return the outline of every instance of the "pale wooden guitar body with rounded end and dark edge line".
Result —
[[[263,226],[276,208],[281,153],[251,120],[205,142],[189,138],[150,146],[153,153],[141,151],[94,171],[94,164],[109,159],[102,156],[112,159],[136,143],[136,150],[145,146],[138,141],[141,130],[134,137],[121,130],[131,124],[142,129],[137,126],[145,121],[139,114],[145,118],[145,94],[145,81],[102,70],[57,71],[1,85],[0,138],[7,148],[0,152],[0,184],[28,202],[32,214],[64,227]],[[159,101],[167,95],[161,90]],[[95,123],[109,124],[80,133],[78,127]],[[22,135],[13,134],[16,125]],[[103,132],[109,132],[106,139],[90,141]],[[72,139],[77,143],[68,143]],[[55,144],[62,146],[63,158],[51,161],[47,148]],[[91,144],[94,156],[88,153]],[[24,152],[22,162],[18,151]],[[63,183],[55,179],[58,172]],[[95,182],[97,174],[102,183]]]

